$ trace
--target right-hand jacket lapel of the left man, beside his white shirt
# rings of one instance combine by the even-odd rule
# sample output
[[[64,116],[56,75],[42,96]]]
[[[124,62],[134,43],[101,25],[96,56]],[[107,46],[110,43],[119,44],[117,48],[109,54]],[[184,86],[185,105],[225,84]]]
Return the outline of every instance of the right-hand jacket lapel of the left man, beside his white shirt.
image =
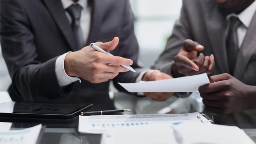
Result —
[[[104,3],[102,0],[93,0],[92,4],[92,16],[91,16],[91,30],[88,36],[86,45],[91,42],[97,42],[100,40],[100,28],[102,16],[104,15]]]

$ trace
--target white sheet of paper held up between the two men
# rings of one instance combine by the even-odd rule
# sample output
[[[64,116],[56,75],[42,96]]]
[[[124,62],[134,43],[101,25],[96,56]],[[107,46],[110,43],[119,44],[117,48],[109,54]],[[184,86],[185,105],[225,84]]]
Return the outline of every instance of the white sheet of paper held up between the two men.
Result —
[[[159,81],[139,83],[118,83],[131,93],[143,92],[195,92],[202,85],[209,84],[207,74],[198,74]]]

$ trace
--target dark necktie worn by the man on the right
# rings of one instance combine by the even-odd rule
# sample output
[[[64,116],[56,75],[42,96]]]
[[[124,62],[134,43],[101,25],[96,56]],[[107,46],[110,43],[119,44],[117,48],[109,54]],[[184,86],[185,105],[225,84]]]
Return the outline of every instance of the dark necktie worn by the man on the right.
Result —
[[[230,74],[233,75],[237,54],[239,51],[237,28],[242,22],[235,16],[230,17],[226,27],[226,49],[228,54],[228,65]]]

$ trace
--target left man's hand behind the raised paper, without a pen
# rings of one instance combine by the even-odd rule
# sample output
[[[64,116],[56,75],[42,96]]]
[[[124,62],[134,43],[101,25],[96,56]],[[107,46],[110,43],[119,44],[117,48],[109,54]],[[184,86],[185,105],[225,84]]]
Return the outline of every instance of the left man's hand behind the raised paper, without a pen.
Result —
[[[142,77],[142,81],[157,81],[161,79],[172,79],[172,77],[168,74],[160,72],[159,70],[149,70]],[[173,93],[144,93],[144,95],[146,95],[148,98],[152,100],[165,101],[168,98],[172,97]]]

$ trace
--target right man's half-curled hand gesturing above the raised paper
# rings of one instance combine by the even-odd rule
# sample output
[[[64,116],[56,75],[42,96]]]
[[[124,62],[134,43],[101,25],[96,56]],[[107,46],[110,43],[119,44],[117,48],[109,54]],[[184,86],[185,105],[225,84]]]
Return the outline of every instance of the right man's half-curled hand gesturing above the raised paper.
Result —
[[[214,56],[204,56],[200,53],[197,56],[198,51],[202,51],[204,46],[194,42],[191,39],[186,39],[183,43],[182,49],[174,58],[174,64],[172,65],[172,74],[174,76],[189,76],[201,73],[211,73],[214,69]]]

